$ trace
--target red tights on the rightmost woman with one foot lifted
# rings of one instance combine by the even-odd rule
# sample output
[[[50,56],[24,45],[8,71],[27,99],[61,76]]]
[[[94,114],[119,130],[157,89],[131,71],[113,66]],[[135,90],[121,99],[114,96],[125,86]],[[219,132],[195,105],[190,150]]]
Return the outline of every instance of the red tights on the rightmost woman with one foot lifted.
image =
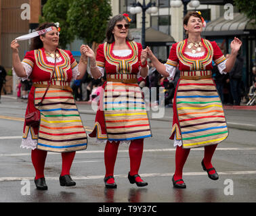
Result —
[[[215,148],[217,147],[217,144],[213,144],[211,146],[205,146],[205,157],[204,157],[204,163],[205,167],[207,169],[210,169],[213,167],[211,164],[211,159],[213,157],[213,153],[215,152]],[[186,163],[186,160],[188,158],[188,155],[190,153],[190,148],[182,148],[182,146],[177,146],[176,153],[175,153],[175,173],[174,173],[174,180],[180,180],[182,179],[182,171],[184,164]],[[215,171],[210,171],[210,174],[213,174]],[[177,182],[177,184],[182,184],[183,182]]]

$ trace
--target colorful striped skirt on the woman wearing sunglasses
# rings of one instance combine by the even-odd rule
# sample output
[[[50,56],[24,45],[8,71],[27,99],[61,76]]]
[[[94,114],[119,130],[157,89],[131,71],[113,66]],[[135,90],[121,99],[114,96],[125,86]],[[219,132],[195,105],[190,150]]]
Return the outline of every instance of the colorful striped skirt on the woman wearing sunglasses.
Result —
[[[152,136],[142,91],[137,84],[106,82],[91,137],[110,141]]]

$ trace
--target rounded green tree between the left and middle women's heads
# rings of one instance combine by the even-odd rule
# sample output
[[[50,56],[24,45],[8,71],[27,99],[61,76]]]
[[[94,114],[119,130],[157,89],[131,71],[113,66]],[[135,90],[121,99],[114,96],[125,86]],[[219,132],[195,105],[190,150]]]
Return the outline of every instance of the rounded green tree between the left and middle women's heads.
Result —
[[[110,0],[76,0],[70,5],[67,21],[70,30],[93,49],[102,43],[112,15]]]

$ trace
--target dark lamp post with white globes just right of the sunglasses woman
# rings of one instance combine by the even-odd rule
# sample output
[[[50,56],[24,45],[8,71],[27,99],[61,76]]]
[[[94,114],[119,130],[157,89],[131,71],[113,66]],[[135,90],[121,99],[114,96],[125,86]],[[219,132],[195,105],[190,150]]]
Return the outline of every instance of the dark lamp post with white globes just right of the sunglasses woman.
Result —
[[[148,3],[146,5],[145,0],[143,0],[143,3],[141,4],[139,1],[137,3],[133,3],[133,7],[130,8],[131,14],[140,14],[142,12],[142,47],[145,49],[146,43],[145,43],[145,37],[146,37],[146,12],[148,14],[155,14],[158,11],[158,8],[156,7],[156,3]]]

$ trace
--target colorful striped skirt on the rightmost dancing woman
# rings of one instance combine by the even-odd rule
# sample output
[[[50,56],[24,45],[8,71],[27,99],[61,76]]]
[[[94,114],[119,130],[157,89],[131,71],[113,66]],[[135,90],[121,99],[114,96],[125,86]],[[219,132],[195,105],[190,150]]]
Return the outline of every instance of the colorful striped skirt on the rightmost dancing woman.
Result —
[[[174,135],[183,148],[217,144],[228,137],[221,99],[211,78],[179,80],[170,139]]]

